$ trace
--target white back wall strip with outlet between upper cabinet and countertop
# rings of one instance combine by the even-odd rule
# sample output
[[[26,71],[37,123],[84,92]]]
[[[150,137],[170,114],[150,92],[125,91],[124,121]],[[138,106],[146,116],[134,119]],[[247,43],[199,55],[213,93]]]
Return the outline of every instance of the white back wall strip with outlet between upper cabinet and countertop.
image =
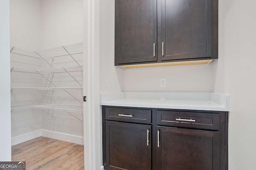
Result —
[[[160,78],[166,78],[166,87],[160,87]],[[124,70],[124,91],[212,92],[212,63],[126,69]]]

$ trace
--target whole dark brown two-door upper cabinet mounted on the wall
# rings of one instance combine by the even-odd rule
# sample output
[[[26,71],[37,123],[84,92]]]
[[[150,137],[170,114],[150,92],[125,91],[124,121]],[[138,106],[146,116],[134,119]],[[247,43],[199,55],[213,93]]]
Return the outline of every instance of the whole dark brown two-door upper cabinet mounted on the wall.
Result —
[[[115,2],[115,65],[218,59],[218,0]]]

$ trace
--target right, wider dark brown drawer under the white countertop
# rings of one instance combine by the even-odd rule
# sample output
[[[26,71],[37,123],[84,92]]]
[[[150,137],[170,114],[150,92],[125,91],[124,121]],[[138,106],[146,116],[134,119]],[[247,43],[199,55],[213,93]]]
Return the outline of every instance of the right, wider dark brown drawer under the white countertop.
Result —
[[[218,113],[158,110],[157,125],[219,130]]]

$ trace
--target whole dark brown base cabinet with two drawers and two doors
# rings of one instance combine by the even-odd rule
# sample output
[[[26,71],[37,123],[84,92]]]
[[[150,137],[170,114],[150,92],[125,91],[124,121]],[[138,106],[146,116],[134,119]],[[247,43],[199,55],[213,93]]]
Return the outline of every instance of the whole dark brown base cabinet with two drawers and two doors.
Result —
[[[228,170],[228,112],[102,107],[106,170]]]

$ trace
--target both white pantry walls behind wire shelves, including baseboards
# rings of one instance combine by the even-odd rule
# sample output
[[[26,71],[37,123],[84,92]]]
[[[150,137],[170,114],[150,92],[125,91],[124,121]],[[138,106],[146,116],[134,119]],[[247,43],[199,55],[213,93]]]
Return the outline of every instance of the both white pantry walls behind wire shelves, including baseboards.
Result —
[[[10,0],[10,35],[11,46],[30,51],[82,43],[83,0]],[[83,49],[82,44],[65,47],[71,51],[73,48]],[[81,53],[74,56],[77,63],[70,56],[47,57],[49,54],[51,56],[57,53],[66,54],[62,47],[50,51],[43,50],[40,53],[45,55],[43,57],[54,67],[78,66],[78,64],[82,65],[83,63]],[[40,69],[51,66],[42,59],[12,54],[11,67]],[[78,69],[82,70],[79,66]],[[11,86],[81,88],[82,71],[73,70],[76,71],[71,70],[70,74],[80,84],[64,70],[62,72],[58,70],[60,73],[54,75],[49,71],[43,72],[46,78],[52,78],[52,83],[55,86],[38,74],[24,74],[24,72],[11,73]],[[67,91],[75,98],[82,100],[81,89]],[[82,106],[82,102],[78,102],[64,90],[43,90],[41,92],[48,97],[37,90],[12,90],[12,106],[49,103]],[[82,120],[82,113],[71,113],[75,117],[65,111],[56,110],[24,109],[12,111],[12,145],[41,135],[82,144],[83,123],[79,120]]]

